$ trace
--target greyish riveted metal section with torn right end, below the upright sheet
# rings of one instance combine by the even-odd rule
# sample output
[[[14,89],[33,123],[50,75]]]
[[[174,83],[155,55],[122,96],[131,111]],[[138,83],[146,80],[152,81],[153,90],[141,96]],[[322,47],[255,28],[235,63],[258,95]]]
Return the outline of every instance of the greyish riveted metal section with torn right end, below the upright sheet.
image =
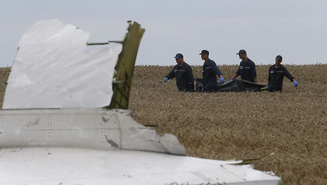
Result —
[[[162,137],[130,110],[25,109],[0,111],[0,148],[121,148],[185,155],[175,135]]]

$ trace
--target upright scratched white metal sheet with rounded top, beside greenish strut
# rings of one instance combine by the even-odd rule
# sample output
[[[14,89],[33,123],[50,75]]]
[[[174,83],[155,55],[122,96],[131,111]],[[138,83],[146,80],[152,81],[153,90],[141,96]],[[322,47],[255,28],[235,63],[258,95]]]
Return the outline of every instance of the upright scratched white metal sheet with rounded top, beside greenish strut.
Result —
[[[89,33],[38,21],[21,37],[3,108],[101,108],[112,99],[121,44],[86,50]]]

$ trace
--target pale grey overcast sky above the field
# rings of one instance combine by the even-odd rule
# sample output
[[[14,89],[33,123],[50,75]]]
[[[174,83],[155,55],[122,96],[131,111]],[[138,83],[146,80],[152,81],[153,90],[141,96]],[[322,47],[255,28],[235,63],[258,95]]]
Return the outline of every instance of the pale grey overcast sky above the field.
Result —
[[[33,23],[60,19],[91,32],[90,42],[123,39],[127,20],[145,28],[136,64],[174,65],[177,52],[188,64],[210,51],[218,65],[239,64],[247,50],[258,64],[327,63],[325,0],[0,0],[0,66],[11,66],[19,39]]]

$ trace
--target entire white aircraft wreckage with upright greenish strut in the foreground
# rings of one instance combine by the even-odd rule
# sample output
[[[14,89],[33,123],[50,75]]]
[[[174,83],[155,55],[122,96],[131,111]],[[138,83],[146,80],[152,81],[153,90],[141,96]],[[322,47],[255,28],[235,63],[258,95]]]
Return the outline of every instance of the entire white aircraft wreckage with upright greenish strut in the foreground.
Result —
[[[177,137],[132,118],[144,31],[129,22],[123,41],[87,43],[48,20],[25,32],[0,110],[0,184],[279,184],[240,162],[186,157]]]

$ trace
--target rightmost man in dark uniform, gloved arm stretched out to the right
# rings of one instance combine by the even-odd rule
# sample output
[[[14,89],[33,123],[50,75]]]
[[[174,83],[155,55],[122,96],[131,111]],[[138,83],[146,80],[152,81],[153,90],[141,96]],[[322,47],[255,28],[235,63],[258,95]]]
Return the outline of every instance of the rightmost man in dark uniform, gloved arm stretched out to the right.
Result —
[[[276,90],[281,91],[283,89],[284,76],[290,79],[290,81],[293,81],[294,87],[297,87],[299,85],[297,84],[297,81],[295,81],[290,72],[288,72],[288,70],[281,65],[283,57],[281,57],[281,55],[277,55],[275,61],[276,64],[269,67],[267,89],[271,92]]]

